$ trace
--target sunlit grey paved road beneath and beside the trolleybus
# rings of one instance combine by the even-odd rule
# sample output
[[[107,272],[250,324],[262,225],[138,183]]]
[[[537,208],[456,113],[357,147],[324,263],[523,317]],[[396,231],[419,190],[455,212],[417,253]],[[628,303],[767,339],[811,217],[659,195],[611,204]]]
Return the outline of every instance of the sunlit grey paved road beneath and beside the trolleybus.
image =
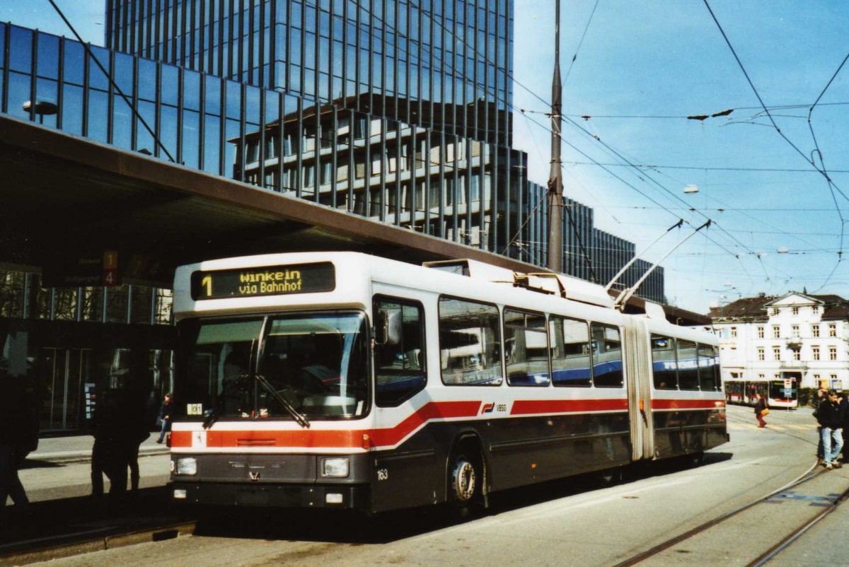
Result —
[[[605,489],[565,480],[510,491],[493,498],[490,514],[463,525],[452,525],[432,511],[368,521],[255,511],[207,519],[194,536],[55,560],[51,565],[616,564],[783,485],[813,462],[816,430],[810,410],[773,412],[767,429],[756,428],[749,408],[729,407],[728,418],[732,442],[709,452],[706,464],[697,469],[660,467]],[[827,481],[818,490],[849,486],[846,469],[824,477]],[[768,533],[781,524],[777,507],[752,533]],[[841,534],[846,531],[837,520],[829,525],[837,526]],[[725,542],[755,528],[732,525],[698,546],[647,564],[745,564],[745,547]],[[819,564],[806,553],[821,553],[819,546],[829,536],[816,537],[812,534],[794,548],[796,555],[788,554],[776,564]]]

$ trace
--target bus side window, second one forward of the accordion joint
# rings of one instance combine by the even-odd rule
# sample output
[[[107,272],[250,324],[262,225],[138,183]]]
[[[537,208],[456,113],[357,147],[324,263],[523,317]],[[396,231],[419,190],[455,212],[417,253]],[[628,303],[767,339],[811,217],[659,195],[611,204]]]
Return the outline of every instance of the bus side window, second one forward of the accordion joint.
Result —
[[[586,321],[551,317],[551,373],[555,386],[590,386],[589,326]]]

